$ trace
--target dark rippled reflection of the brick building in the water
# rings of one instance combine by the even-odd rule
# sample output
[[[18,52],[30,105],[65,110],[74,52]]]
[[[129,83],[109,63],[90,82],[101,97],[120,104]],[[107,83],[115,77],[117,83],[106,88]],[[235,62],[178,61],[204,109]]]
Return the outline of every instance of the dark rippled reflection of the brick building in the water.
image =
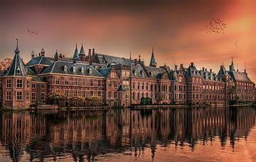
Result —
[[[1,112],[1,144],[13,161],[23,153],[30,160],[56,160],[72,156],[74,161],[94,161],[106,153],[131,151],[139,156],[156,146],[195,146],[220,141],[235,148],[237,139],[247,138],[255,125],[250,107],[111,109],[60,112]]]

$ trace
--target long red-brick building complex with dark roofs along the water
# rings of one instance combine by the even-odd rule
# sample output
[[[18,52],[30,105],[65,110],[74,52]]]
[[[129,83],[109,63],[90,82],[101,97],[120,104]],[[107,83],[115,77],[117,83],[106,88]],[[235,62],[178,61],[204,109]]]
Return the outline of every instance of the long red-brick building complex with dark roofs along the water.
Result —
[[[1,72],[1,107],[29,107],[33,103],[48,103],[48,94],[59,91],[68,97],[61,107],[90,106],[90,102],[73,102],[72,97],[100,98],[98,105],[130,106],[139,104],[142,97],[150,97],[156,104],[225,105],[235,97],[239,101],[255,100],[255,84],[247,72],[235,71],[233,60],[229,70],[220,66],[218,74],[194,63],[156,67],[152,48],[149,66],[144,61],[120,58],[85,50],[76,45],[73,58],[56,51],[47,57],[45,50],[23,63],[18,50],[8,70]]]

